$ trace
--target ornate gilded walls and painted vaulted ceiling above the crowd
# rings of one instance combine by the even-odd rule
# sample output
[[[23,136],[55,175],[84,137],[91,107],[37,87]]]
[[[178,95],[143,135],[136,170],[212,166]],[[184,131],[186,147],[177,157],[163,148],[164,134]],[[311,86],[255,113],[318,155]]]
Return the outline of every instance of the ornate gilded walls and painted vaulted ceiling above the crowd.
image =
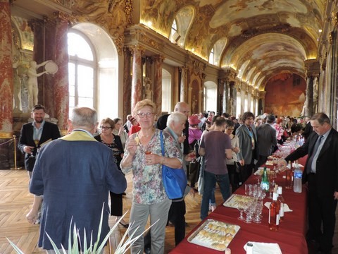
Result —
[[[177,102],[323,111],[337,129],[337,25],[338,0],[0,0],[0,169],[23,167],[15,144],[35,102],[62,135],[76,106],[125,121],[145,98],[158,116]]]

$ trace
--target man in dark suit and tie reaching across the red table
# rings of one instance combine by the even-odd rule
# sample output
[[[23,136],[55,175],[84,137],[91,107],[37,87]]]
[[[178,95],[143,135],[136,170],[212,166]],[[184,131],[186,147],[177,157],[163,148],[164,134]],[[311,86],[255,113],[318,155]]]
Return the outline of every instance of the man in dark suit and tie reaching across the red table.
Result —
[[[319,253],[331,253],[338,199],[338,133],[324,113],[310,121],[313,133],[283,164],[308,155],[303,171],[303,183],[308,183],[307,240],[319,246]]]

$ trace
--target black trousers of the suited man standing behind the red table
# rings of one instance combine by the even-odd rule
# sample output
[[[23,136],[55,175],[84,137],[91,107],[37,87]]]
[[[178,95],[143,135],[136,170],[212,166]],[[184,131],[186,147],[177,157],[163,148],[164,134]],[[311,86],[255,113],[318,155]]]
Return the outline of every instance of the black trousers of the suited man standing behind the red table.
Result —
[[[332,238],[336,224],[337,200],[332,195],[318,195],[316,175],[308,174],[308,239],[320,244],[320,250],[332,249]],[[323,224],[323,232],[322,232]]]

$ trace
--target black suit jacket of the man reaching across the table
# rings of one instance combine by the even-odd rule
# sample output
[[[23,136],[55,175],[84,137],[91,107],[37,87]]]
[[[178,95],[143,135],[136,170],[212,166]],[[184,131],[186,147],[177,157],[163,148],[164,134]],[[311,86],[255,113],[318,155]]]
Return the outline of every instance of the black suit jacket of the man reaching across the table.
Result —
[[[315,141],[318,134],[313,131],[301,147],[288,155],[285,160],[294,161],[305,155],[308,159],[311,157]],[[306,165],[304,165],[303,183],[307,181]],[[333,196],[334,191],[338,191],[338,133],[333,128],[331,129],[325,143],[320,150],[316,162],[316,187],[318,195],[320,196]]]

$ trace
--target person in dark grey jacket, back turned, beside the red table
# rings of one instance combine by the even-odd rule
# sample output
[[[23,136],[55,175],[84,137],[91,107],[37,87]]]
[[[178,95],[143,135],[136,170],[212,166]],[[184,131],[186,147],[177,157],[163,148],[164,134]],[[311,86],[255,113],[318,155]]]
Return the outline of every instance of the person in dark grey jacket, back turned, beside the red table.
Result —
[[[257,127],[257,144],[258,144],[258,162],[256,169],[263,165],[268,157],[272,155],[274,147],[277,147],[276,129],[273,123],[276,118],[273,115],[266,116],[266,122]]]

